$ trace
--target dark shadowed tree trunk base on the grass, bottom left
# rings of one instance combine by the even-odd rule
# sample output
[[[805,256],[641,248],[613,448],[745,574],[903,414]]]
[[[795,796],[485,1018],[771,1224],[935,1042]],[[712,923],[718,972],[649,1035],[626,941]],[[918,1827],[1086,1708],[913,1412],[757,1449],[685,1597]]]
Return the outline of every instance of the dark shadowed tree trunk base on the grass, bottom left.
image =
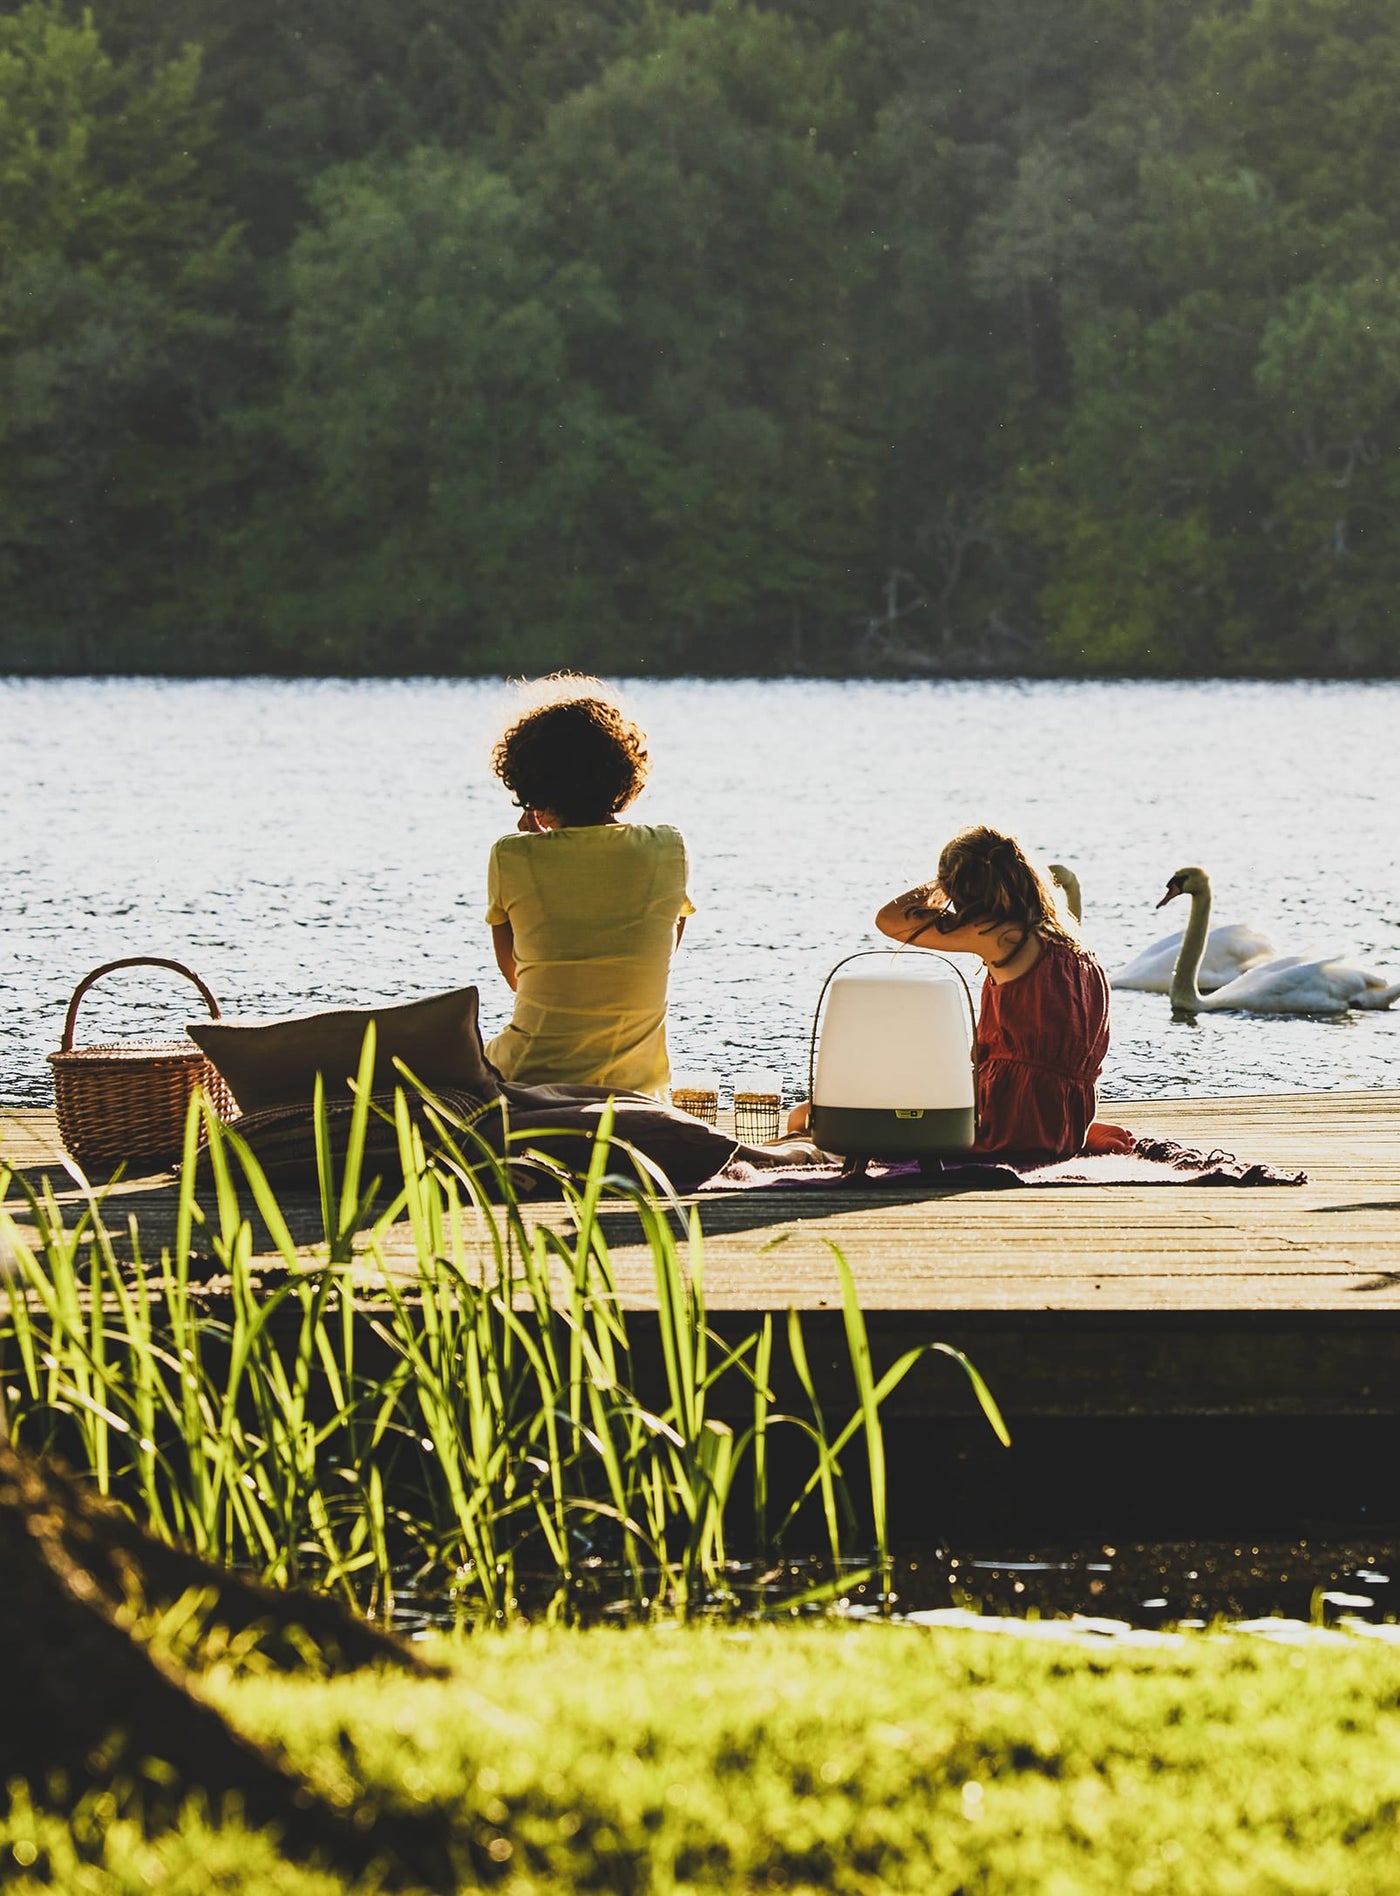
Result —
[[[233,1731],[175,1661],[133,1629],[129,1602],[207,1596],[209,1621],[266,1625],[266,1650],[294,1663],[313,1640],[328,1667],[393,1663],[429,1672],[406,1646],[311,1595],[277,1593],[144,1534],[72,1475],[17,1452],[0,1433],[0,1784],[25,1778],[42,1799],[138,1780],[150,1820],[193,1790],[218,1811],[273,1826],[292,1856],[347,1871],[385,1862],[398,1881],[450,1887],[446,1832],[395,1813],[341,1813],[275,1750]],[[146,1759],[163,1767],[144,1773]],[[366,1820],[368,1818],[368,1820]]]

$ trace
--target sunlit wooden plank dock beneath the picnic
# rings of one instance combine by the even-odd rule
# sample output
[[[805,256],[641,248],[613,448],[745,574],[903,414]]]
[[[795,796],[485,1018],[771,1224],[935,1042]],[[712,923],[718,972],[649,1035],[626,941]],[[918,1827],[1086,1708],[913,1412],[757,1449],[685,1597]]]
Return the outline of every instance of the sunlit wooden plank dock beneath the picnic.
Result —
[[[1013,1426],[1400,1416],[1400,1090],[1134,1102],[1106,1117],[1303,1168],[1309,1183],[704,1194],[715,1327],[746,1335],[761,1312],[795,1306],[808,1312],[814,1363],[835,1375],[846,1354],[835,1244],[856,1274],[876,1361],[954,1342]],[[47,1172],[59,1189],[55,1153],[49,1113],[0,1113],[0,1158]],[[118,1196],[159,1251],[171,1183],[133,1181]],[[649,1253],[626,1210],[609,1210],[605,1231],[645,1329]],[[892,1403],[911,1418],[966,1413],[966,1384],[935,1361]]]

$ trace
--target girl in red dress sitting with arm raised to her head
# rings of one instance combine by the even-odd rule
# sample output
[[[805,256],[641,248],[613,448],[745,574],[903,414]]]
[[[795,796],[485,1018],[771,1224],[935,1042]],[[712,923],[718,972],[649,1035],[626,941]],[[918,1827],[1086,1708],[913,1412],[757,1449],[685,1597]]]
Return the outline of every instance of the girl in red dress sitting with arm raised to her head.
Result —
[[[986,963],[977,1020],[977,1157],[1043,1162],[1131,1151],[1095,1122],[1108,1052],[1108,978],[1015,836],[975,827],[945,846],[931,884],[875,918],[899,942]]]

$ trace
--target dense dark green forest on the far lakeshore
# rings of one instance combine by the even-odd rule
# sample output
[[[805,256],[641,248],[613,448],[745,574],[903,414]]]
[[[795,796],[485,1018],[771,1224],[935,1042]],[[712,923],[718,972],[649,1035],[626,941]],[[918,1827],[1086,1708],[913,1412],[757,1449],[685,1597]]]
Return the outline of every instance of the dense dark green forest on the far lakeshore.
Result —
[[[1400,671],[1394,0],[0,4],[0,669]]]

